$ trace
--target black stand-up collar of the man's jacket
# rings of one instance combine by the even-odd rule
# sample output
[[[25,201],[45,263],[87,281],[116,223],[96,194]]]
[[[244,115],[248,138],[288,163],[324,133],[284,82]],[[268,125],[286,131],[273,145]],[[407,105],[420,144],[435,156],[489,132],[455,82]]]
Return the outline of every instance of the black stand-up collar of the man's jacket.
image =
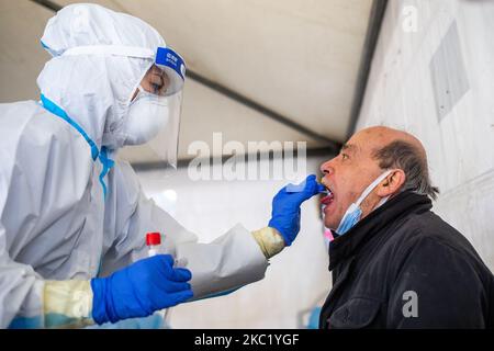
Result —
[[[412,191],[405,191],[390,199],[384,205],[371,212],[345,235],[329,245],[329,271],[350,257],[358,247],[375,234],[411,213],[422,213],[433,207],[430,199]]]

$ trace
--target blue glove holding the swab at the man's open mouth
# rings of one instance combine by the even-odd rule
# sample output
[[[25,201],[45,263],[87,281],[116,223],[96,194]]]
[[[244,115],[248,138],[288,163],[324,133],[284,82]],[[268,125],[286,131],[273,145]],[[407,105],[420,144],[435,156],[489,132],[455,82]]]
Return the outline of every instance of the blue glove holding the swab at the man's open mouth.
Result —
[[[316,182],[316,177],[311,174],[299,185],[288,184],[274,196],[268,226],[281,234],[287,246],[292,245],[300,231],[302,203],[325,190],[324,185]]]

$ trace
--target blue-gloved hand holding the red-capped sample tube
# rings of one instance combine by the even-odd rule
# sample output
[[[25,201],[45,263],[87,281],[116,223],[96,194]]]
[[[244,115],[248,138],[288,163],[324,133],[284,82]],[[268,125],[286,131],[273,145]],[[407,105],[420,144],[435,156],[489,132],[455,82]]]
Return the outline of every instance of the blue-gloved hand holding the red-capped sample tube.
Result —
[[[98,324],[146,317],[192,297],[189,270],[173,268],[169,254],[158,254],[91,280],[92,318]]]

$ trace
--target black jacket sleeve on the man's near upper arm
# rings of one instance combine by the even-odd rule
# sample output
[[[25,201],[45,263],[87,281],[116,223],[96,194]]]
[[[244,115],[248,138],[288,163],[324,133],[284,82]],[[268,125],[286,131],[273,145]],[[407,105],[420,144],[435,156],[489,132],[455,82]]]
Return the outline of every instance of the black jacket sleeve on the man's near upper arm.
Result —
[[[392,284],[386,328],[485,328],[486,296],[463,254],[419,237]]]

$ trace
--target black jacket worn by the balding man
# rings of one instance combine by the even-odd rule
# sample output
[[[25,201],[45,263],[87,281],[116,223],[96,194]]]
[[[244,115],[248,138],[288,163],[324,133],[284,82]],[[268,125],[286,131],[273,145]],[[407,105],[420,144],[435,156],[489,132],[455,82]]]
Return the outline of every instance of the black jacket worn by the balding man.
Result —
[[[493,328],[493,274],[431,207],[403,192],[330,244],[319,328]]]

